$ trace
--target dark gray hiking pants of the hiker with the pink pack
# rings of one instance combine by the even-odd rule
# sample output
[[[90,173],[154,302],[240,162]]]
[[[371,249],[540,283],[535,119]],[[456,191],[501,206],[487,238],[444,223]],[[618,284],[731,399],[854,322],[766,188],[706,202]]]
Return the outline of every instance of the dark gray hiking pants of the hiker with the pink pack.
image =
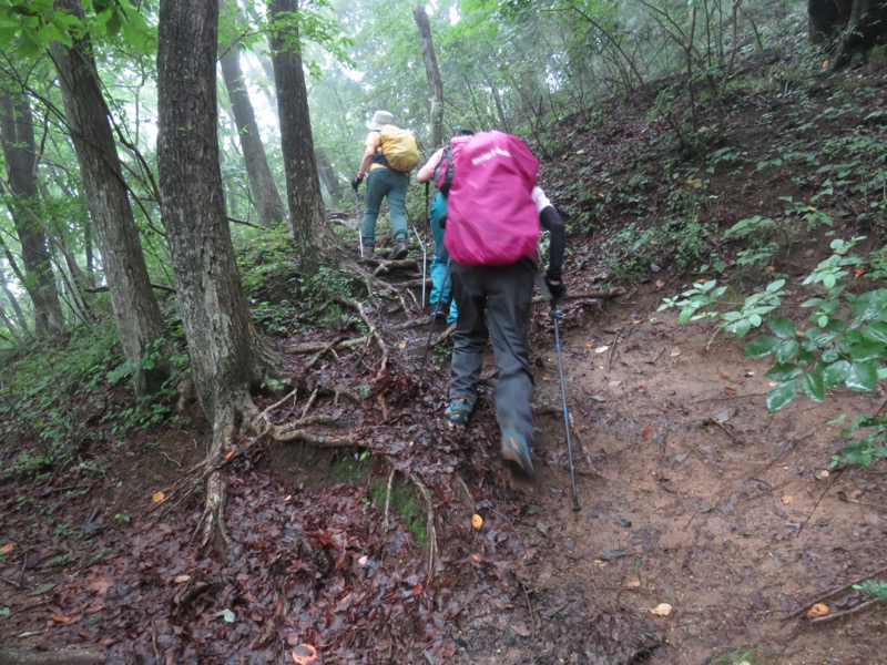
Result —
[[[527,259],[506,266],[467,266],[452,262],[452,294],[459,307],[452,334],[450,399],[477,400],[477,382],[487,339],[492,341],[499,381],[496,417],[501,430],[533,440],[530,400],[533,376],[527,350],[536,267]],[[487,320],[485,323],[485,311]]]

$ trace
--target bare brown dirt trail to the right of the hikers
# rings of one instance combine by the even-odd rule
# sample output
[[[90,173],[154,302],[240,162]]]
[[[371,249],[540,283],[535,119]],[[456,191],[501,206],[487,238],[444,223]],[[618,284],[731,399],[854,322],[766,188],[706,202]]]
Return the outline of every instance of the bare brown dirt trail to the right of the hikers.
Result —
[[[768,366],[744,358],[735,339],[712,341],[713,327],[656,313],[660,297],[651,287],[610,303],[564,336],[578,512],[557,358],[541,352],[538,401],[557,408],[538,419],[540,479],[513,483],[510,512],[488,516],[520,534],[510,546],[524,602],[504,623],[466,618],[465,662],[628,663],[646,653],[684,664],[752,647],[765,663],[883,662],[879,608],[784,621],[883,565],[878,475],[826,471],[840,448],[839,426],[826,422],[873,412],[883,396],[798,399],[767,413]],[[828,604],[859,602],[843,593]],[[661,603],[669,616],[650,612]],[[481,636],[489,627],[499,628],[492,645]],[[631,647],[613,652],[612,638]]]

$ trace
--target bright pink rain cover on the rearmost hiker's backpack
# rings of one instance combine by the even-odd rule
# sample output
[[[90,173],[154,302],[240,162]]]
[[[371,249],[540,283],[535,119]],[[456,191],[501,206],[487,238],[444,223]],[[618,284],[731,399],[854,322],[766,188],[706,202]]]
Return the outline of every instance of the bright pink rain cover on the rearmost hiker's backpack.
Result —
[[[453,260],[473,266],[536,258],[539,212],[532,188],[539,162],[516,136],[475,134],[455,157],[443,244]]]

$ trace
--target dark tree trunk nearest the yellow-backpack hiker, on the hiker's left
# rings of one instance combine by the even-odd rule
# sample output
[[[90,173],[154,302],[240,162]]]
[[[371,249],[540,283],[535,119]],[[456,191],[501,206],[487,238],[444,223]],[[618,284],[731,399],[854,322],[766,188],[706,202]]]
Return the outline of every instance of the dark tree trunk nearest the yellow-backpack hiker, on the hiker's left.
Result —
[[[289,214],[303,268],[312,272],[338,248],[326,221],[317,178],[314,140],[308,113],[308,90],[302,69],[296,0],[272,0],[269,43],[281,117],[281,152],[286,171]]]

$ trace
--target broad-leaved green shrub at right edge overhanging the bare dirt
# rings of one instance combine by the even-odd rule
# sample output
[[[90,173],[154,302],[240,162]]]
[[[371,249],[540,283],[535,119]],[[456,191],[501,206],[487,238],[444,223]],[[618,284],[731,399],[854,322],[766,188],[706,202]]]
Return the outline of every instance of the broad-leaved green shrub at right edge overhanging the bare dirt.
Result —
[[[665,298],[660,310],[680,308],[681,323],[717,318],[737,337],[766,323],[769,334],[752,339],[745,355],[773,360],[765,375],[774,382],[766,398],[771,411],[786,407],[797,395],[822,402],[837,388],[873,392],[887,379],[887,288],[876,282],[876,288],[857,286],[856,293],[850,290],[852,277],[864,275],[868,263],[883,269],[883,250],[868,259],[850,253],[861,239],[833,241],[832,256],[804,279],[804,286],[816,290],[801,305],[810,310],[806,328],[799,329],[792,319],[774,314],[782,305],[782,279],[748,296],[740,309],[720,309],[730,305],[722,300],[726,289],[708,280]],[[887,417],[859,415],[840,437],[858,439],[833,458],[833,467],[867,467],[874,459],[887,457]]]

